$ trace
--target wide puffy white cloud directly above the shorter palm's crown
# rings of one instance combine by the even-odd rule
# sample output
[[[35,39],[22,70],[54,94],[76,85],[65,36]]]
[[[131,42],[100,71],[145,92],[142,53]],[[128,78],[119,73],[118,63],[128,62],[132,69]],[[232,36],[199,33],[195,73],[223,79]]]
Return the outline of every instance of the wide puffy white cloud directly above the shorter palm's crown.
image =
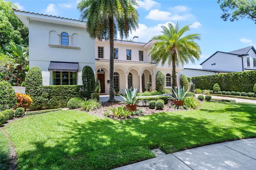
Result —
[[[189,18],[193,18],[194,16],[192,14],[184,14],[184,15],[178,15],[168,12],[168,11],[160,11],[158,9],[151,10],[149,14],[146,16],[146,19],[150,20],[187,20]]]

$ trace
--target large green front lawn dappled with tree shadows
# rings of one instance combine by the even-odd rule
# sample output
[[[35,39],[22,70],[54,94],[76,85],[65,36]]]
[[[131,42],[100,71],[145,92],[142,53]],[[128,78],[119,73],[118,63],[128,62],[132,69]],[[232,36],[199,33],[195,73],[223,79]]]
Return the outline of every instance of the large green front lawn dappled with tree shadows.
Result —
[[[256,137],[256,105],[204,102],[194,111],[115,121],[75,110],[18,119],[5,127],[18,168],[110,169],[153,158],[150,149],[186,148]]]

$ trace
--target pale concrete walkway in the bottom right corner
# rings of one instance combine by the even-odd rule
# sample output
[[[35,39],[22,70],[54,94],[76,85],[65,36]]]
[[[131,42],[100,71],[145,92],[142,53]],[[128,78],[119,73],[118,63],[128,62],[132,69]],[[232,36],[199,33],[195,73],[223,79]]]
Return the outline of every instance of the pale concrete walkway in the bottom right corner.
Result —
[[[235,140],[158,156],[114,170],[256,170],[256,138]]]

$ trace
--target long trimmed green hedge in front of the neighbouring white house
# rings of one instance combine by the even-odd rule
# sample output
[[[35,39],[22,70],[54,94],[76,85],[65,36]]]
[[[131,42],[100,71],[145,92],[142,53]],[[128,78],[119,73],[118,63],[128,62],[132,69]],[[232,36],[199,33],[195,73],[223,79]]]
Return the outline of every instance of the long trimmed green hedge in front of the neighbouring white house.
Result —
[[[215,75],[192,77],[192,81],[198,89],[213,89],[218,83],[223,91],[253,92],[256,83],[256,71],[242,71]]]

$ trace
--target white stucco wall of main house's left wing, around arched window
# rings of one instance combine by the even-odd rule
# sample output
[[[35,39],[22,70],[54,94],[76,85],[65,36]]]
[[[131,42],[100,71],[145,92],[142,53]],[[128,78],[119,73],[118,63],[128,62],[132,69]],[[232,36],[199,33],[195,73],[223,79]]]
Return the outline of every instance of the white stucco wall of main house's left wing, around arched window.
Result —
[[[68,49],[59,47],[50,47],[51,45],[60,45],[60,36],[50,38],[50,32],[61,34],[68,33],[70,36],[70,45],[80,47],[80,49]],[[74,36],[72,42],[72,36]],[[74,44],[74,45],[72,45]],[[78,67],[78,85],[82,84],[82,69],[89,65],[95,70],[94,59],[94,40],[91,40],[86,33],[85,28],[38,22],[30,20],[29,22],[29,59],[30,67],[39,66],[42,70],[43,85],[52,85],[51,71],[48,71],[50,61],[77,62]]]

